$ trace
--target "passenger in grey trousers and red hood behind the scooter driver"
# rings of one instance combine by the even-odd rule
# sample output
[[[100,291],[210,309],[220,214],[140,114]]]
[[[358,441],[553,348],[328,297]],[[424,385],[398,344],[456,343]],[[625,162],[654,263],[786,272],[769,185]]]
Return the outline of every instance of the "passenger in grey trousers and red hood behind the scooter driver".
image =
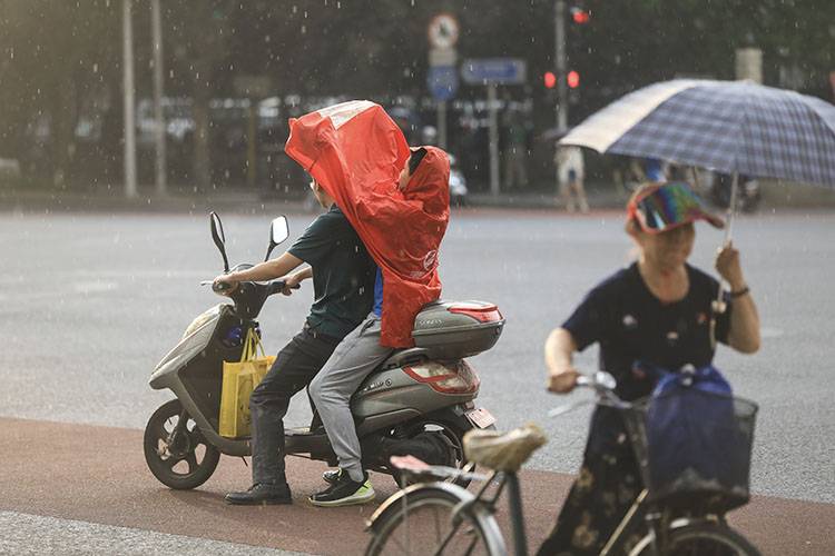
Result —
[[[443,226],[445,230],[449,219],[448,181],[449,159],[446,155],[433,147],[421,147],[412,149],[409,162],[400,175],[397,188],[406,200],[420,203],[420,210],[434,216],[438,226]],[[432,270],[438,265],[436,254],[443,230],[434,236],[436,244],[432,245],[433,249],[421,254],[425,268],[422,270],[422,276],[413,279],[418,288],[426,284],[436,284],[439,287],[435,290],[435,299],[440,297],[440,280],[438,280],[436,272]],[[392,234],[396,232],[392,231]],[[325,425],[325,431],[340,464],[337,470],[328,471],[324,476],[330,486],[311,496],[311,503],[316,506],[363,504],[373,498],[367,473],[362,466],[362,450],[351,415],[351,396],[365,377],[394,351],[394,348],[411,345],[407,340],[392,342],[382,338],[384,330],[382,315],[392,299],[386,298],[387,302],[383,300],[386,286],[383,274],[377,267],[373,310],[345,337],[323,367],[322,373],[311,384],[311,398]],[[403,281],[400,282],[401,295],[402,286]],[[413,321],[414,315],[411,315],[410,326]]]

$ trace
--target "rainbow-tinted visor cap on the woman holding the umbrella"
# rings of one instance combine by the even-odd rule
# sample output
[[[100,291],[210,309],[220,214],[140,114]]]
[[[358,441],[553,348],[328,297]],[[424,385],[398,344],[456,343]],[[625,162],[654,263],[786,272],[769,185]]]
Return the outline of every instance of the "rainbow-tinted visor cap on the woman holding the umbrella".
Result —
[[[721,218],[705,210],[701,200],[687,183],[664,183],[649,189],[627,207],[629,218],[638,220],[641,229],[660,234],[696,220],[705,220],[716,228],[724,228]]]

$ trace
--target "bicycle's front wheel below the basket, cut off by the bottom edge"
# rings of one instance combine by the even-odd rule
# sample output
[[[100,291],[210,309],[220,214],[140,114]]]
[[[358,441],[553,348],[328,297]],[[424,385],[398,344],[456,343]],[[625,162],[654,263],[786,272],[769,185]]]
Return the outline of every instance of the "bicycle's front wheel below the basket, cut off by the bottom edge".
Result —
[[[651,535],[651,534],[650,534]],[[652,538],[647,535],[630,556],[651,556]],[[720,524],[699,523],[670,532],[665,556],[759,556],[747,538]]]

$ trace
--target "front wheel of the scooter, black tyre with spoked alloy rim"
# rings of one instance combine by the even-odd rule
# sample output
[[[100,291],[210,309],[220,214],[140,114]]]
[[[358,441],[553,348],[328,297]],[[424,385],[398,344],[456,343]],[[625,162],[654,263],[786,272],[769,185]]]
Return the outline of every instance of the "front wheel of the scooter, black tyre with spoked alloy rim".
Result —
[[[220,451],[208,444],[178,399],[163,404],[145,427],[145,461],[161,484],[196,488],[215,473]]]

